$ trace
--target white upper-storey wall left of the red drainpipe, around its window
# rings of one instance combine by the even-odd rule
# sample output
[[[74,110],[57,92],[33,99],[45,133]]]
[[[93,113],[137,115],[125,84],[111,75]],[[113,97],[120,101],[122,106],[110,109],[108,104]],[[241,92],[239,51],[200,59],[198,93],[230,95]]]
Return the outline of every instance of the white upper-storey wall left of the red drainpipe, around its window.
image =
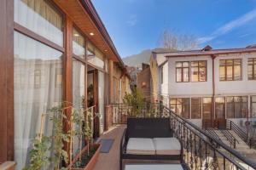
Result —
[[[207,82],[176,82],[176,62],[207,60]],[[171,96],[201,96],[212,95],[212,58],[211,56],[168,58],[169,89]]]

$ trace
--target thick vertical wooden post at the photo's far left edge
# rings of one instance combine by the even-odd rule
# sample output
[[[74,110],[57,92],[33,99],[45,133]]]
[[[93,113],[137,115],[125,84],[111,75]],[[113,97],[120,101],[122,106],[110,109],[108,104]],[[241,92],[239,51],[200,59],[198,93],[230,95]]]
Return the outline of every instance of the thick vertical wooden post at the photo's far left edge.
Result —
[[[14,160],[14,2],[0,1],[0,162]]]

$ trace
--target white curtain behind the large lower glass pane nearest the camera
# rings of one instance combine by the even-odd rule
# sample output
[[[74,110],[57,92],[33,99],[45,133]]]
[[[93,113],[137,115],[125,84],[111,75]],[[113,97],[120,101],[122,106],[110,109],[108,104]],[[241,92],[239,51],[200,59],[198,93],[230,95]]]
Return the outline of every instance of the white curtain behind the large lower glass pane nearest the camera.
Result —
[[[61,52],[15,32],[15,161],[29,162],[41,115],[61,104]],[[52,128],[46,119],[44,133]]]

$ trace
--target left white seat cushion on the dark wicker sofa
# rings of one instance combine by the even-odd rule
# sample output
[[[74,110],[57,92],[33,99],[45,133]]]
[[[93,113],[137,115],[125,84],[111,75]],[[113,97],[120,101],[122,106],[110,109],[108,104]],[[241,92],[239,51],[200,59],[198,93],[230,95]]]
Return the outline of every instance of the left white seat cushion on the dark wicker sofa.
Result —
[[[146,138],[130,138],[128,140],[127,154],[135,155],[154,155],[154,143],[152,139]]]

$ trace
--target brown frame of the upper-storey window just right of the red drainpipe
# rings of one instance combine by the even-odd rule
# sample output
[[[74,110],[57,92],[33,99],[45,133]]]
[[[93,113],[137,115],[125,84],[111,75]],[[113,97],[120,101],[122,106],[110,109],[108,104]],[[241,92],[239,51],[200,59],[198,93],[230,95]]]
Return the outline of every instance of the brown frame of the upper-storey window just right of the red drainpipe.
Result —
[[[227,65],[227,60],[232,60],[233,61],[233,65]],[[218,73],[219,75],[219,82],[227,82],[227,81],[242,81],[242,59],[241,60],[241,65],[240,65],[240,75],[241,75],[241,78],[240,80],[235,80],[235,61],[236,59],[219,59],[219,64],[218,64],[218,71],[220,70],[220,67],[221,66],[224,66],[224,80],[221,80],[220,79],[220,72]],[[220,61],[225,61],[225,65],[220,65]],[[227,67],[228,66],[232,66],[232,80],[227,80]]]

